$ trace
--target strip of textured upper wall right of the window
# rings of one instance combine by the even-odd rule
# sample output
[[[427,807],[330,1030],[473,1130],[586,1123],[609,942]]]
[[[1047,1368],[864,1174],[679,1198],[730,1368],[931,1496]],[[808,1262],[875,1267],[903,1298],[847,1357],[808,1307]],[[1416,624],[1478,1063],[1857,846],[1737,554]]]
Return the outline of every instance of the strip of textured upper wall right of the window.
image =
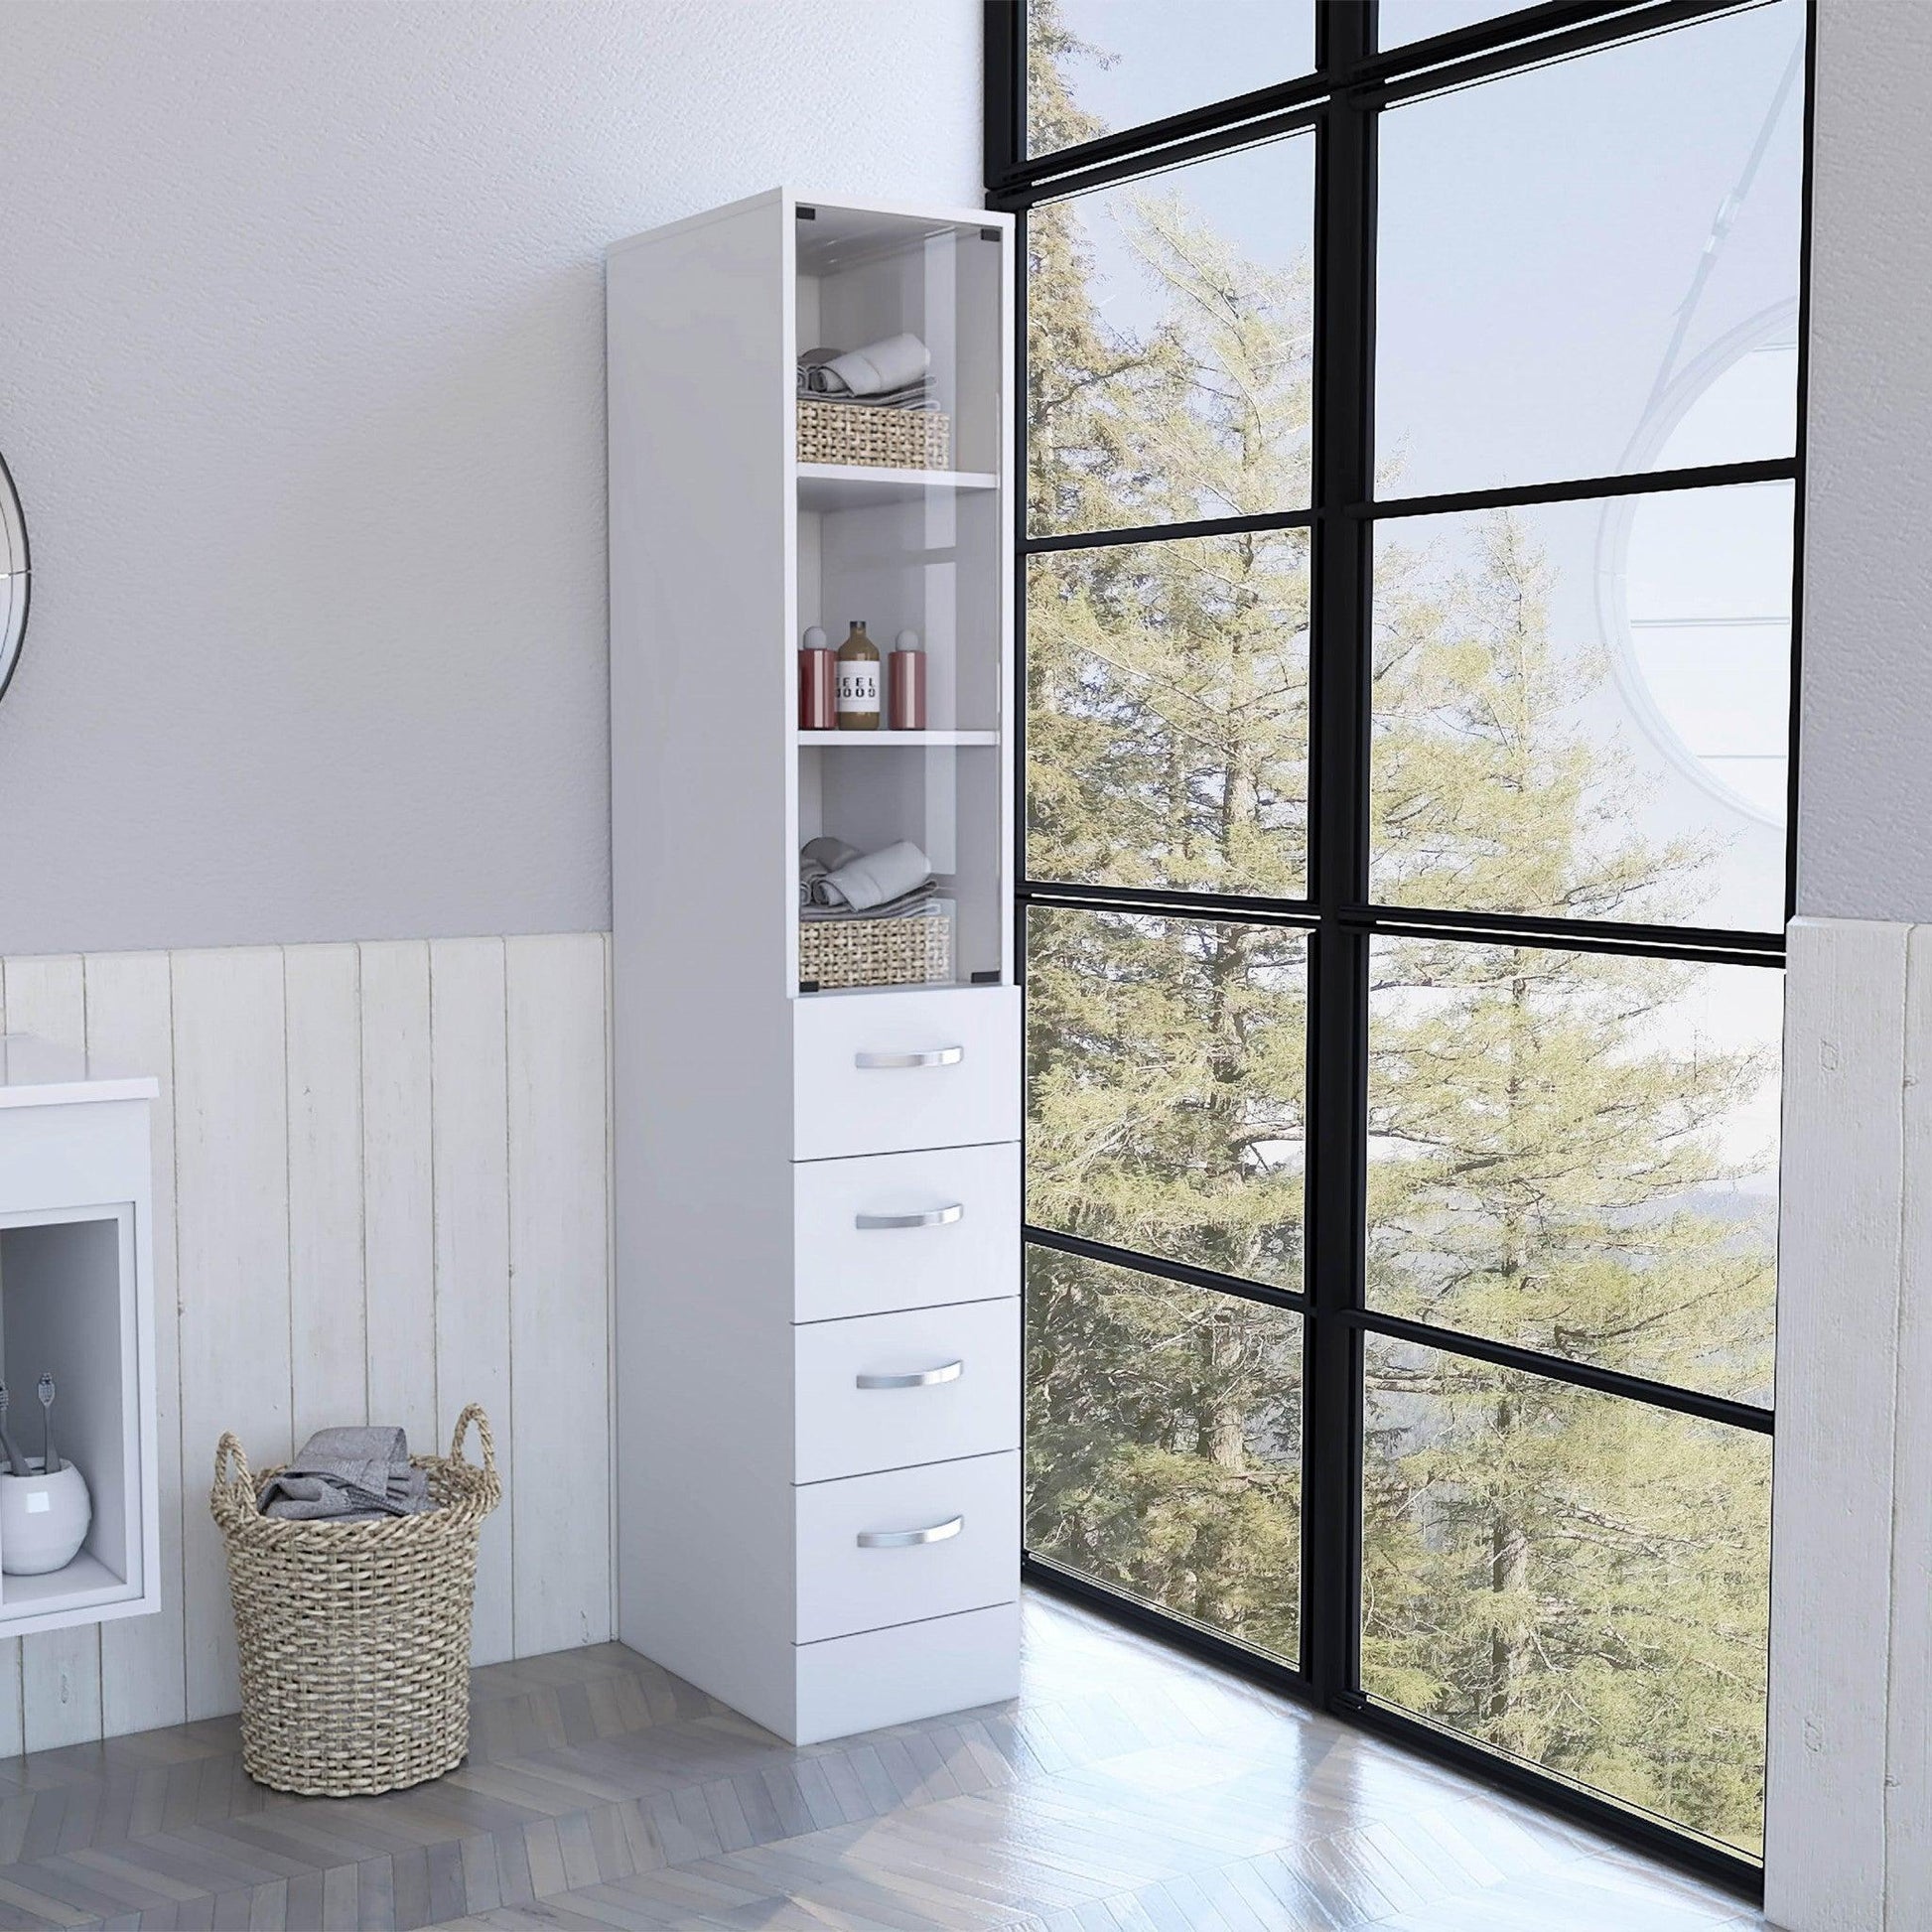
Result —
[[[1818,0],[1799,910],[1932,918],[1932,6]]]

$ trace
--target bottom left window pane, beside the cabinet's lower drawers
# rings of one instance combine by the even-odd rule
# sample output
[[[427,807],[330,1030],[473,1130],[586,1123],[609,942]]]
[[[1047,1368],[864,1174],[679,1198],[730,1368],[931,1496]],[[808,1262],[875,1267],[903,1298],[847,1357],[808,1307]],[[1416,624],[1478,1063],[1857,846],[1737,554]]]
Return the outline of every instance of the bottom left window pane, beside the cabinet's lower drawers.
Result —
[[[1028,1248],[1028,1551],[1298,1663],[1300,1505],[1300,1316]]]

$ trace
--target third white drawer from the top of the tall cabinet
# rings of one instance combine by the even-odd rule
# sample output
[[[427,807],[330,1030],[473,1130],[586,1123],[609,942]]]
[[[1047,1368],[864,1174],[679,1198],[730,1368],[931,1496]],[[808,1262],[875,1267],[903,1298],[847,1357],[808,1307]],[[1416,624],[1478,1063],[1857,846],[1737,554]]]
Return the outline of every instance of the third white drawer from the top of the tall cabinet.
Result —
[[[792,1331],[798,1482],[1020,1447],[1020,1302]]]

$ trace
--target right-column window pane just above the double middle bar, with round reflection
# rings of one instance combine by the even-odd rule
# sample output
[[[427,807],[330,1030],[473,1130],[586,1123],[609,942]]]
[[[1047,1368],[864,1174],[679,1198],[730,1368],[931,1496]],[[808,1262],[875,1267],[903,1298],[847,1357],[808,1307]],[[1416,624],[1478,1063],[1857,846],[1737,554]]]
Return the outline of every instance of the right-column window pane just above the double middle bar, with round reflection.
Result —
[[[1791,485],[1376,527],[1370,893],[1777,931]]]

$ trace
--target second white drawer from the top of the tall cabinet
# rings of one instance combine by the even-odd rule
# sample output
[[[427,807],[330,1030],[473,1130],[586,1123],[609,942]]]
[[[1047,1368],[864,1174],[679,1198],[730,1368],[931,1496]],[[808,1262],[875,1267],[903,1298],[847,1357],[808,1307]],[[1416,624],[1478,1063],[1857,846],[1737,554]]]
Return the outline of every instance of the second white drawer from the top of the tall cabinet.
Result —
[[[798,1161],[792,1231],[800,1321],[1018,1294],[1020,1150]]]

